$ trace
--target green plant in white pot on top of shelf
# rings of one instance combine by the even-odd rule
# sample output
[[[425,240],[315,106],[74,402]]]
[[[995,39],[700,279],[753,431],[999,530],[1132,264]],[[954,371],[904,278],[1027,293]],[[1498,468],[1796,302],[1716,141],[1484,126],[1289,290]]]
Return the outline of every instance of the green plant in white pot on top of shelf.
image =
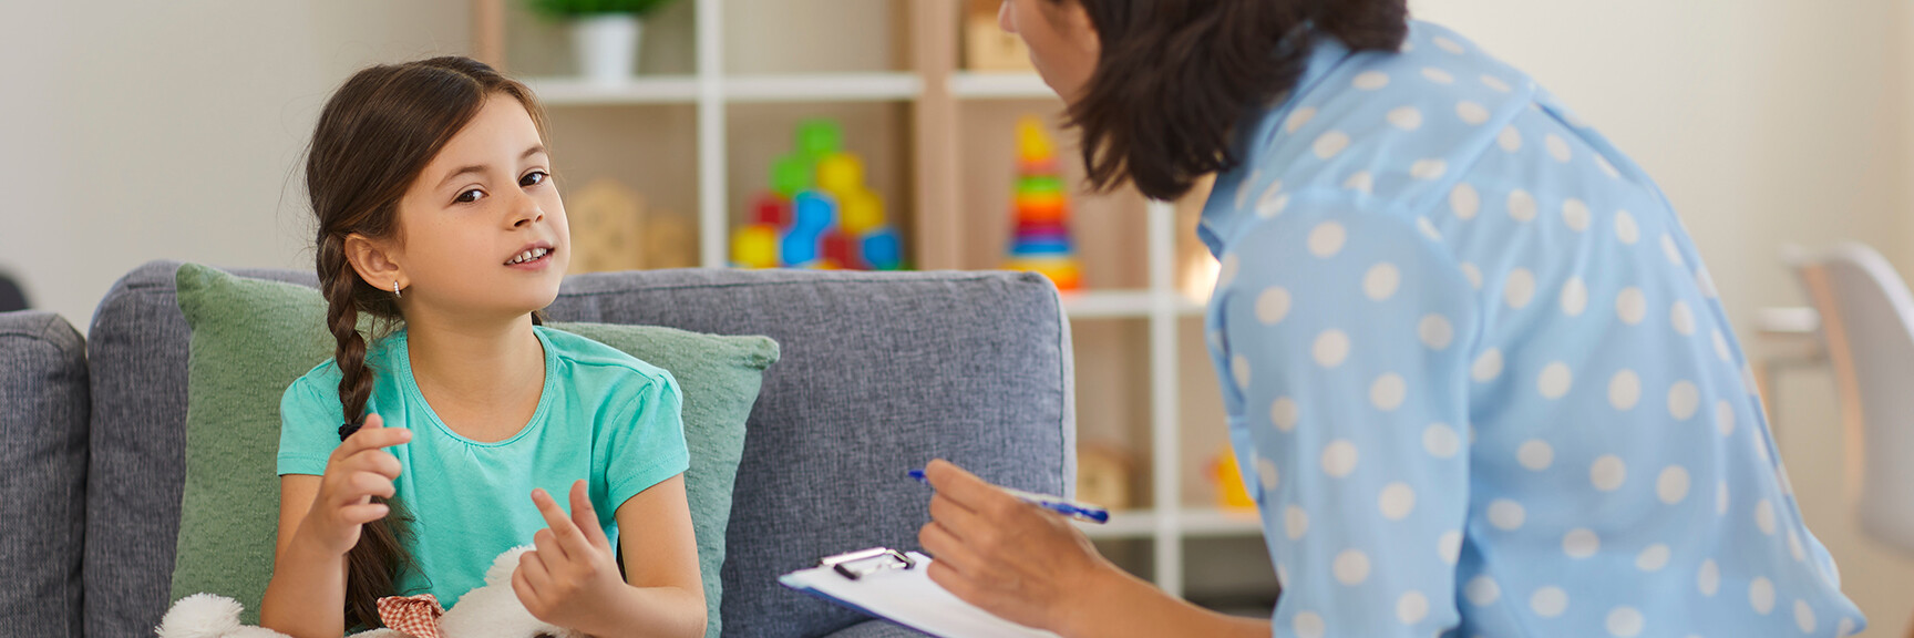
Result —
[[[532,10],[572,25],[578,75],[593,84],[620,84],[637,69],[645,15],[672,0],[530,0]]]

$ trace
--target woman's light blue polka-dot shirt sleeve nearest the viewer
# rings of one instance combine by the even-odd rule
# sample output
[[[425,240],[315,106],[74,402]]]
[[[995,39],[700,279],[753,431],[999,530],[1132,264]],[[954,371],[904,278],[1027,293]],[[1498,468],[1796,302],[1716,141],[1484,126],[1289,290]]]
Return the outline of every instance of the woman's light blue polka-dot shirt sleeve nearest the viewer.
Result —
[[[1336,203],[1248,228],[1225,262],[1225,393],[1271,521],[1275,636],[1455,628],[1474,289],[1414,220]]]

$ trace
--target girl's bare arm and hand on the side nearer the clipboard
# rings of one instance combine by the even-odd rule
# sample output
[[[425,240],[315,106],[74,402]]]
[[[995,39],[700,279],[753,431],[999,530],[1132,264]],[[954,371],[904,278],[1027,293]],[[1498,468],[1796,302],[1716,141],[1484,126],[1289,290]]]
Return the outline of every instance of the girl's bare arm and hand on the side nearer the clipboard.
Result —
[[[591,636],[704,636],[704,581],[691,533],[685,477],[658,481],[618,506],[626,581],[597,525],[586,481],[572,483],[572,513],[532,492],[545,515],[511,586],[540,621]]]

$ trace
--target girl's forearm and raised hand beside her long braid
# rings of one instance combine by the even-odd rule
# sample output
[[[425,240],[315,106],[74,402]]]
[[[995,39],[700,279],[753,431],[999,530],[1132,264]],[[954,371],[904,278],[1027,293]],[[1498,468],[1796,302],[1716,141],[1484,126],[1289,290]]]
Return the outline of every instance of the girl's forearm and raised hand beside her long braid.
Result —
[[[400,466],[381,448],[410,439],[412,431],[387,429],[369,416],[333,450],[323,477],[279,477],[279,536],[260,627],[295,638],[345,634],[345,554],[358,544],[360,525],[389,513],[371,496],[392,496]]]

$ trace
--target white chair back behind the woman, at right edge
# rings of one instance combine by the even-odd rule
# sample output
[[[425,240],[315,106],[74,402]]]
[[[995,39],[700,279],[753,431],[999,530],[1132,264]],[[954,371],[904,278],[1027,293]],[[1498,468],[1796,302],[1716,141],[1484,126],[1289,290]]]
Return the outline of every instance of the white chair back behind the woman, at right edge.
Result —
[[[1862,243],[1790,247],[1784,261],[1820,312],[1860,527],[1914,552],[1914,293]]]

